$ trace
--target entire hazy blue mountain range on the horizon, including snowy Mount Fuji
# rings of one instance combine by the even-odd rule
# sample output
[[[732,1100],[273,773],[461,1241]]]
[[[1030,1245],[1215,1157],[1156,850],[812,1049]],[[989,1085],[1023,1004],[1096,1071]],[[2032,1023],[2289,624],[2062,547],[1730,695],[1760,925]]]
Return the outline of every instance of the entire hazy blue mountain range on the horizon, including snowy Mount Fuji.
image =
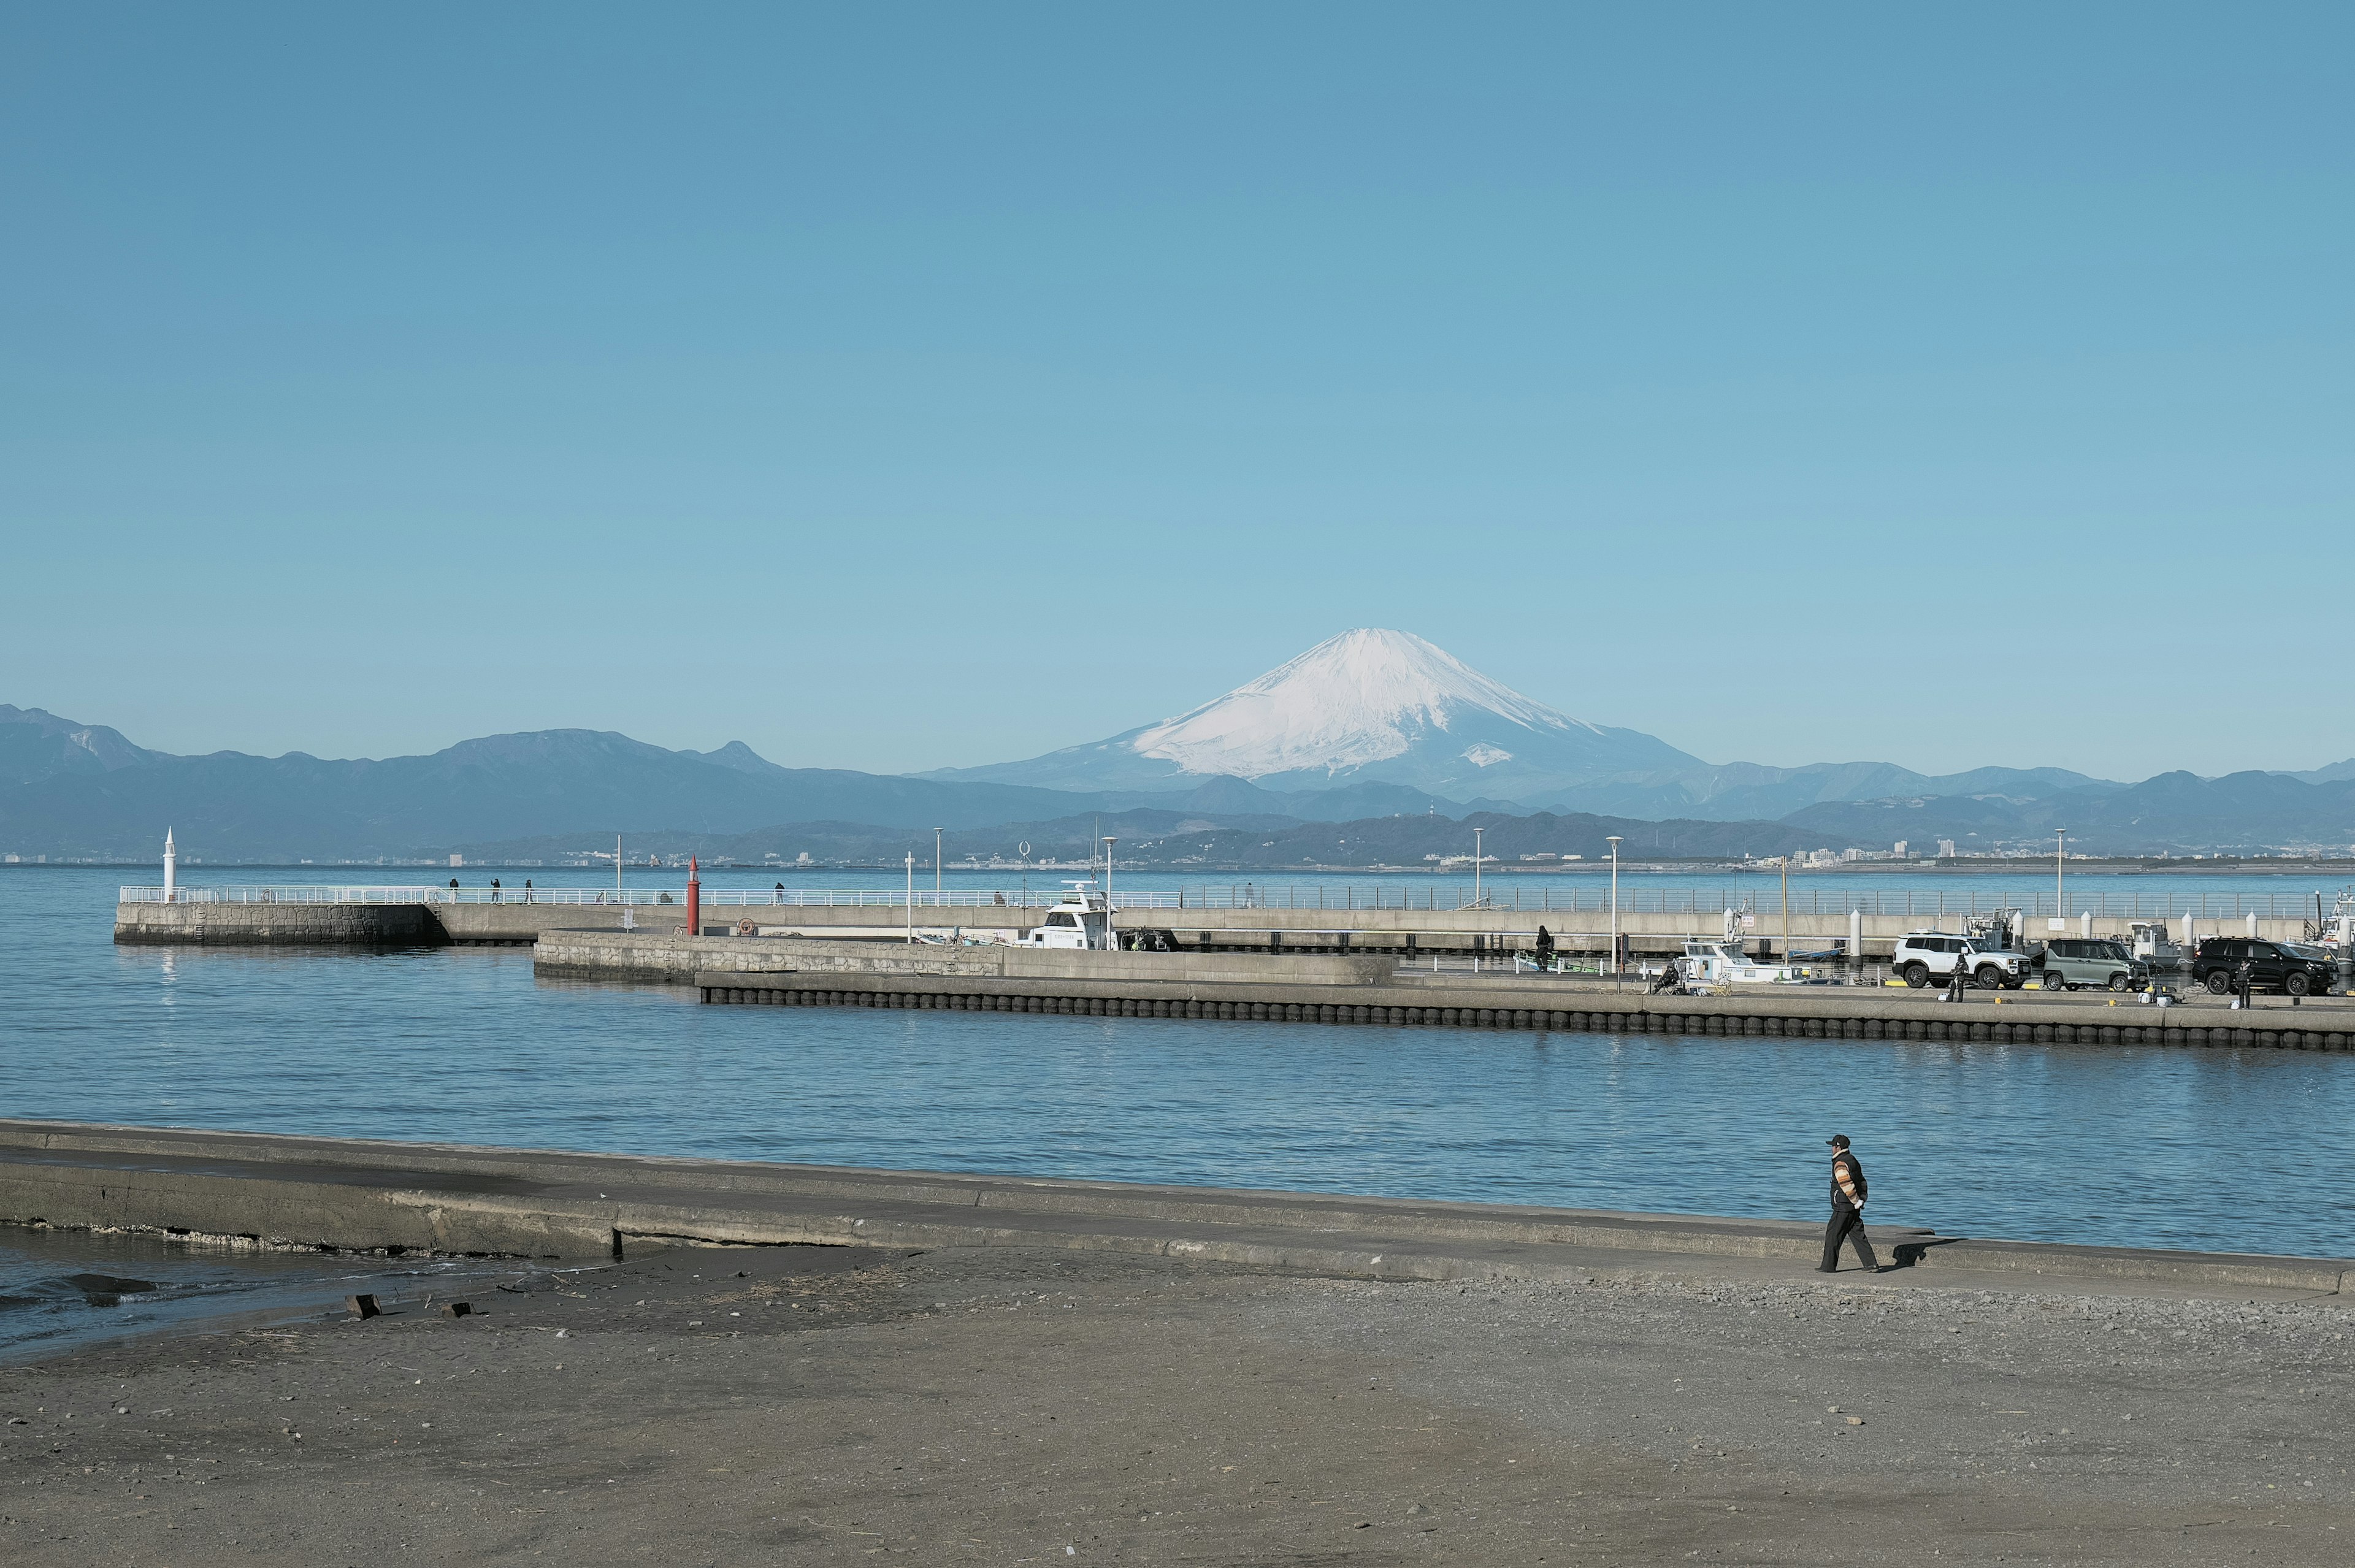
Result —
[[[1604,829],[1592,824],[1604,819],[1648,824],[1663,850],[1686,857],[1898,841],[1919,855],[1943,838],[1964,852],[2035,852],[2056,829],[2096,855],[2343,855],[2355,848],[2355,758],[2141,784],[2061,768],[1705,763],[1375,629],[1319,643],[1178,718],[1022,763],[914,777],[780,768],[742,742],[664,751],[601,730],[490,735],[386,760],[170,756],[106,725],[0,704],[0,852],[24,857],[153,859],[165,826],[193,859],[254,862],[568,859],[615,833],[739,859],[874,859],[935,826],[961,836],[958,857],[987,857],[1024,838],[1062,843],[1083,817],[1093,831],[1097,815],[1123,824],[1104,829],[1126,841],[1123,859],[1272,869],[1373,864],[1356,850],[1420,864],[1460,852],[1462,829],[1441,822],[1474,817],[1538,824],[1538,848],[1514,848],[1524,831],[1500,829],[1498,855],[1594,855]],[[1378,822],[1399,826],[1368,826]],[[1641,836],[1625,833],[1630,848]]]

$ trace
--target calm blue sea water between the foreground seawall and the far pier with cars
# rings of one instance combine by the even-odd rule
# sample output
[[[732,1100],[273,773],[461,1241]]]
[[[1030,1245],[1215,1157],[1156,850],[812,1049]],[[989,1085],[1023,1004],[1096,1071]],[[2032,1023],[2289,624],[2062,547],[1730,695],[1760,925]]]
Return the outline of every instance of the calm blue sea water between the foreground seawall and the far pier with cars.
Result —
[[[0,871],[5,1114],[1797,1220],[1849,1132],[1889,1222],[2355,1255],[2339,1055],[702,1008],[523,949],[118,949],[120,881]]]

